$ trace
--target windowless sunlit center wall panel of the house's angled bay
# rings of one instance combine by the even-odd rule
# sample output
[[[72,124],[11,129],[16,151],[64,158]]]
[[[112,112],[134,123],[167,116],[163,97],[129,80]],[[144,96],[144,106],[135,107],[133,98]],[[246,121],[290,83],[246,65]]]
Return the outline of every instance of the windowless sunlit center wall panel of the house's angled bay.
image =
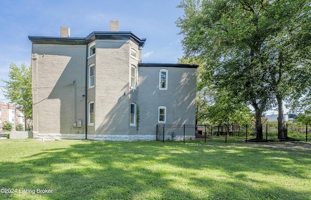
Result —
[[[127,40],[96,41],[95,134],[129,134],[129,53]]]

